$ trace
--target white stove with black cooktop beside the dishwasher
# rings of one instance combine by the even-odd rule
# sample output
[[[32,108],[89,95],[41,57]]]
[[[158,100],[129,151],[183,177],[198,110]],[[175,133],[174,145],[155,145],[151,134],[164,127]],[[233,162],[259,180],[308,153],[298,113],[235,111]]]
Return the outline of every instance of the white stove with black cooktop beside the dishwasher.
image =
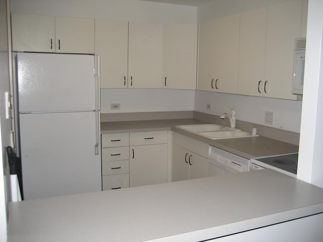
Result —
[[[270,168],[296,178],[298,153],[252,158],[250,170]]]

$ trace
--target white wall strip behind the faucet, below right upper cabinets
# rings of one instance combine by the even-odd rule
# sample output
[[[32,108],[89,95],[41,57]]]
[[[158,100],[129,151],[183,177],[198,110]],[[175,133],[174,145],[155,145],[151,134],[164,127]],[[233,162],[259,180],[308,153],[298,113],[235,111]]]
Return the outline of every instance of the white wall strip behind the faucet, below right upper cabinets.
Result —
[[[211,110],[206,109],[206,103],[211,104]],[[196,111],[221,115],[224,112],[230,113],[230,107],[235,108],[238,120],[296,133],[300,131],[301,101],[206,91],[195,92]],[[274,125],[264,123],[265,111],[274,112]]]

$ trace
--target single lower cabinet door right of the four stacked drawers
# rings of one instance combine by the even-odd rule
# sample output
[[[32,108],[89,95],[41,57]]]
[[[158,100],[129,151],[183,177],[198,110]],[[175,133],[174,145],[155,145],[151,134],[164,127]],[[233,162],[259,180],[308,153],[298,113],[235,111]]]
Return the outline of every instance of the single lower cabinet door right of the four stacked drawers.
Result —
[[[167,182],[167,144],[130,146],[130,187]]]

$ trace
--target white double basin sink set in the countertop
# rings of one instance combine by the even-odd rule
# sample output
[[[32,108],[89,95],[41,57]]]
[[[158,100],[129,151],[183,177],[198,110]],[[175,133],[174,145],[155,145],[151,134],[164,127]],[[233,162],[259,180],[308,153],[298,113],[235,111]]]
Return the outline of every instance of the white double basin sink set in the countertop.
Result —
[[[176,126],[176,128],[191,132],[193,134],[201,135],[213,140],[259,136],[259,135],[252,135],[249,132],[225,127],[222,125],[215,125],[215,124],[179,125],[179,126]]]

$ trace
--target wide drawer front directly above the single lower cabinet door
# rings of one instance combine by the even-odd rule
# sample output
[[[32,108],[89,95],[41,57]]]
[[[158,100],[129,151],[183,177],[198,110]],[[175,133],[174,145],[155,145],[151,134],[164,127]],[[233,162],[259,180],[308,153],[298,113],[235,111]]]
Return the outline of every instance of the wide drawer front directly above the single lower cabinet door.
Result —
[[[130,133],[130,145],[167,144],[167,131]]]

